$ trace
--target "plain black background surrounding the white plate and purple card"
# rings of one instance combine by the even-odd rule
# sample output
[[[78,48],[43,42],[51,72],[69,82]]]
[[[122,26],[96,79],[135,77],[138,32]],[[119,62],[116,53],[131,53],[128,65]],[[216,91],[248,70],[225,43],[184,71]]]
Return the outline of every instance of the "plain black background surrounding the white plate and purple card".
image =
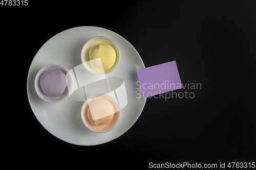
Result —
[[[0,6],[8,116],[2,119],[3,149],[5,158],[20,161],[9,166],[255,162],[256,1],[81,2]],[[28,70],[47,40],[79,26],[121,35],[146,67],[176,60],[182,83],[202,88],[176,90],[194,92],[194,99],[147,99],[134,126],[104,144],[79,146],[54,137],[30,108]]]

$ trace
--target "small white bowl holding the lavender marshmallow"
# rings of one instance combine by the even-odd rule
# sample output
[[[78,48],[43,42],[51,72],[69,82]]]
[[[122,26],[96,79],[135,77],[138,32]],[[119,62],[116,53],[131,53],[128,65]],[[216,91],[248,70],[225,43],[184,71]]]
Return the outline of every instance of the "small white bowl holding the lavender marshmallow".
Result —
[[[64,72],[65,75],[67,75],[67,73],[69,72],[68,68],[63,67],[59,64],[49,64],[45,67],[42,67],[38,72],[37,75],[35,77],[35,91],[36,93],[39,95],[39,97],[46,101],[46,102],[50,102],[50,103],[59,103],[62,102],[64,100],[66,100],[69,97],[69,91],[68,88],[66,87],[65,91],[59,95],[59,96],[50,96],[47,95],[46,93],[44,93],[44,91],[42,91],[42,88],[40,86],[40,79],[41,76],[50,69],[58,69]]]

